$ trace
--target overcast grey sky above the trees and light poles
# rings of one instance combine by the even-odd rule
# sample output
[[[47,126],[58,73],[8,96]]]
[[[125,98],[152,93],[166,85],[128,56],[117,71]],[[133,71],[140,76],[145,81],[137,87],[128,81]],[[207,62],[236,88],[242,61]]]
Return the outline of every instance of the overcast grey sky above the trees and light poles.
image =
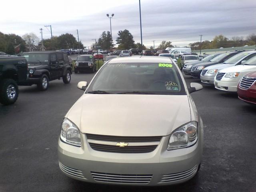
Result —
[[[158,46],[162,40],[187,46],[191,42],[212,40],[223,34],[244,36],[256,34],[256,0],[141,0],[142,38],[146,46]],[[85,46],[98,40],[103,31],[110,31],[106,14],[112,19],[113,40],[118,30],[129,30],[140,42],[139,0],[22,0],[1,2],[0,31],[22,36],[34,32],[50,38],[44,25],[52,25],[59,36],[71,33]]]

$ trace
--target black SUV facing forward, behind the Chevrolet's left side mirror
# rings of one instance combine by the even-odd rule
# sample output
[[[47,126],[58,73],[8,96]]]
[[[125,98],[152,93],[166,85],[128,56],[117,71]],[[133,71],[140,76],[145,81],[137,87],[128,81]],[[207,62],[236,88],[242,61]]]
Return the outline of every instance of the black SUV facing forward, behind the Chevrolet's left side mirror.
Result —
[[[90,71],[92,73],[96,72],[96,64],[93,56],[78,56],[76,63],[74,64],[74,71],[75,73],[78,73],[78,71]]]

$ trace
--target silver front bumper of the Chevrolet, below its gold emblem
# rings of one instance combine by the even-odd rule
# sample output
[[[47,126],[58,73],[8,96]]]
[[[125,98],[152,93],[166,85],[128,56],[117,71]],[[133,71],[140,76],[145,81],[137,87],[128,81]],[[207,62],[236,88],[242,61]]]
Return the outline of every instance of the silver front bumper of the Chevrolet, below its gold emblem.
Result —
[[[59,165],[67,176],[86,182],[143,186],[178,184],[197,172],[202,158],[201,133],[199,131],[196,144],[189,148],[168,151],[169,136],[164,136],[153,152],[142,154],[93,150],[85,134],[81,135],[82,147],[65,144],[59,139]]]

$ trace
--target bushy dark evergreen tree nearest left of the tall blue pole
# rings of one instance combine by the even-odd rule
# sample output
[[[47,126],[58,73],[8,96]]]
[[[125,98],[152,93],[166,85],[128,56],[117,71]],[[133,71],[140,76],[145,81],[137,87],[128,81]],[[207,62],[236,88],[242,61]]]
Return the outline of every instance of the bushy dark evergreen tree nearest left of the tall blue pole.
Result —
[[[116,44],[118,44],[118,49],[134,48],[134,40],[132,34],[126,29],[124,31],[118,31]]]

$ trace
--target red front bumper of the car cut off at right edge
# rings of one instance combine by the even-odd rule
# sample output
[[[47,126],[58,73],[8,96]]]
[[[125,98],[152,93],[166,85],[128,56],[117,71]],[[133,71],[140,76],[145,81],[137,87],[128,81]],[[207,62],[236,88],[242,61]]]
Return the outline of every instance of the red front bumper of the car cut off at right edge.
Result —
[[[252,85],[249,89],[243,89],[238,86],[238,98],[248,103],[256,104],[256,86]]]

